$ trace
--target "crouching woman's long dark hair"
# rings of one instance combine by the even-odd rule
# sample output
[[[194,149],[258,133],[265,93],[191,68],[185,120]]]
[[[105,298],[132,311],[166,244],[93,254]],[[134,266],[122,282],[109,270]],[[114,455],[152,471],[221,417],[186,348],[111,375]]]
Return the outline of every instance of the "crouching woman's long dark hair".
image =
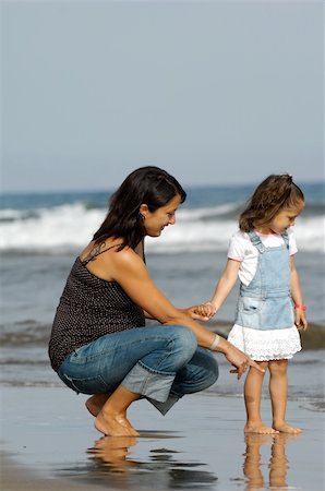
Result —
[[[108,237],[120,237],[119,250],[135,248],[145,236],[140,206],[146,204],[151,212],[165,206],[177,194],[181,203],[186,193],[166,170],[158,167],[141,167],[131,172],[110,197],[108,214],[93,237],[96,242]]]

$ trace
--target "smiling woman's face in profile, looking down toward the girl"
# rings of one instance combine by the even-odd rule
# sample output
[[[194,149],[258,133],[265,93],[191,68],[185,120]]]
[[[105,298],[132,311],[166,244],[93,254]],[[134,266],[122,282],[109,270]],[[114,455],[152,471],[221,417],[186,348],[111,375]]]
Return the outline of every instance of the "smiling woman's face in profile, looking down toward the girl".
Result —
[[[146,204],[140,206],[140,213],[144,217],[144,227],[149,237],[159,237],[168,225],[176,223],[176,211],[181,204],[181,196],[176,194],[166,205],[155,212],[151,212]]]

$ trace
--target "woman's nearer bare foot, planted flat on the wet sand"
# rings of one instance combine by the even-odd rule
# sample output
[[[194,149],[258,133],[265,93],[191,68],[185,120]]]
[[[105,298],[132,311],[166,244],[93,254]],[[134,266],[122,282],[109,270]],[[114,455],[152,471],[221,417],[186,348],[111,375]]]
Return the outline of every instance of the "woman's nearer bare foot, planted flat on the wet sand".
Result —
[[[100,411],[95,420],[95,428],[109,436],[139,436],[124,414]]]

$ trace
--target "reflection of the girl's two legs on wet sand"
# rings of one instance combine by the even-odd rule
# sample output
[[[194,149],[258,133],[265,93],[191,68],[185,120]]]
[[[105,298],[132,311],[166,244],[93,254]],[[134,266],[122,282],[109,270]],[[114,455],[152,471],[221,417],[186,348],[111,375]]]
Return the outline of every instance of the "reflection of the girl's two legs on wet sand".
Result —
[[[244,453],[243,472],[248,479],[246,491],[258,489],[288,489],[287,470],[289,462],[286,456],[286,443],[288,440],[299,438],[299,435],[289,435],[279,433],[275,435],[246,433],[245,444],[246,451]],[[265,481],[261,470],[262,445],[270,446],[270,455],[268,463],[268,482]]]

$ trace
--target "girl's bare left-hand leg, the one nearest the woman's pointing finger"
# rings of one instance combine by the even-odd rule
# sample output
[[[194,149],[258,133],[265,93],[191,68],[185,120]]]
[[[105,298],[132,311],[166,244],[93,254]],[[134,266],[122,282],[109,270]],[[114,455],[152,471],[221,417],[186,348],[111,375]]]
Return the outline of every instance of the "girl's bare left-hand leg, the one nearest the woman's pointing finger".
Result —
[[[256,361],[261,368],[266,370],[267,361]],[[278,433],[270,427],[266,427],[261,419],[261,398],[264,373],[250,368],[244,383],[244,399],[248,420],[244,427],[246,433],[273,434]]]

